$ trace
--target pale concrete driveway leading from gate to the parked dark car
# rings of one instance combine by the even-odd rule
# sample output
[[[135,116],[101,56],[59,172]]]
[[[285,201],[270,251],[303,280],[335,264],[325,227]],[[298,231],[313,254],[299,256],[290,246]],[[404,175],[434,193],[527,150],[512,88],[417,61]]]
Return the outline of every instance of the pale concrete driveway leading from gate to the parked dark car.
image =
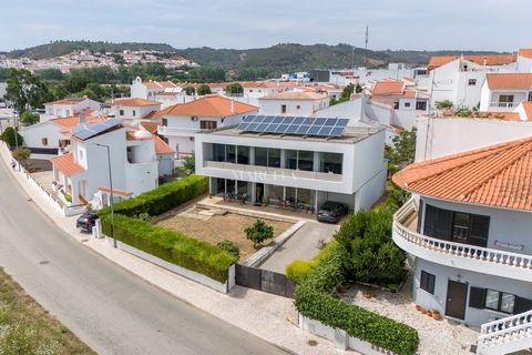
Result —
[[[319,252],[319,241],[329,242],[339,227],[339,224],[307,222],[259,267],[284,274],[291,261],[313,258]]]

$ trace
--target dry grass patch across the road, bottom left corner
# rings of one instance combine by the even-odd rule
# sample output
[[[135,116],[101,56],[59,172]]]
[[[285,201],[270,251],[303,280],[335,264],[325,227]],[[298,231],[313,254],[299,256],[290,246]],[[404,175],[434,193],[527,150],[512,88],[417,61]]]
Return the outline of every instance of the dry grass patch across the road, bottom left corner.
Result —
[[[0,354],[95,354],[0,267]]]

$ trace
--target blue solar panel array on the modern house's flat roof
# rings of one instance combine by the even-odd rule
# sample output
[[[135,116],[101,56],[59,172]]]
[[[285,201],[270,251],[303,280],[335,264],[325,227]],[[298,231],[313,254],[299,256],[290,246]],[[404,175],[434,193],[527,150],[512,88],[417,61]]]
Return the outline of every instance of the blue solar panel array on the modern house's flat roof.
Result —
[[[244,132],[256,133],[341,136],[348,122],[348,119],[336,118],[253,114],[242,120],[237,129]]]

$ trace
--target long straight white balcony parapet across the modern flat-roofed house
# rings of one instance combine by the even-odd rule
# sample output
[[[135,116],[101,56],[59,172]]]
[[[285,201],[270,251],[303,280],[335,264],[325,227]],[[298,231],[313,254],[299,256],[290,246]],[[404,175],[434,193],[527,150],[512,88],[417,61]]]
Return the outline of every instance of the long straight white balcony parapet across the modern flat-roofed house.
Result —
[[[265,176],[272,176],[272,181],[276,179],[309,179],[309,180],[319,180],[326,182],[341,182],[341,174],[332,173],[321,173],[316,171],[301,171],[301,170],[291,170],[291,169],[282,169],[282,168],[267,168],[260,165],[247,165],[247,164],[235,164],[235,163],[225,163],[225,162],[215,162],[215,161],[205,161],[203,163],[204,168],[212,169],[224,169],[234,172],[242,172],[248,174],[260,174]]]

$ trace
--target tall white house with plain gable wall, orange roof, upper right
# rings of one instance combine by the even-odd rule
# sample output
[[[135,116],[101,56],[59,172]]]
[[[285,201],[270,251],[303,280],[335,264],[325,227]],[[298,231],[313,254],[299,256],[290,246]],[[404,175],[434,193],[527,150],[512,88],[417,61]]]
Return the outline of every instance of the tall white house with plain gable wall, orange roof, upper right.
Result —
[[[449,100],[456,108],[477,108],[485,75],[514,72],[515,62],[515,54],[432,57],[427,84],[430,103]]]

